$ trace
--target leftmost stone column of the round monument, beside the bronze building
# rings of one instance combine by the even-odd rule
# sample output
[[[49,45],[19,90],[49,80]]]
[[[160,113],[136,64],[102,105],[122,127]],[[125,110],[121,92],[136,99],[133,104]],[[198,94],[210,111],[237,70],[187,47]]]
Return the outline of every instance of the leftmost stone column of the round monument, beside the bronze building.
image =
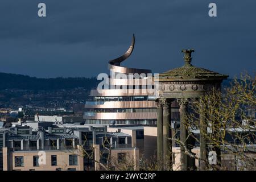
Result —
[[[158,170],[163,170],[163,107],[160,103],[159,99],[156,100],[156,107],[157,107],[157,159],[158,159]]]

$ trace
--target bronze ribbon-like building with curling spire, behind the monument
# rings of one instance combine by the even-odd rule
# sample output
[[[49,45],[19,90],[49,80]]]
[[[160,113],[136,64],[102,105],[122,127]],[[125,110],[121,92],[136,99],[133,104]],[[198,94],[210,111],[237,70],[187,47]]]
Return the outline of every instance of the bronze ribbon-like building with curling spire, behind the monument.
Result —
[[[133,52],[134,44],[133,35],[126,53],[109,61],[108,88],[91,90],[92,101],[85,105],[86,124],[156,125],[155,97],[148,92],[154,90],[151,70],[121,67],[121,62]]]

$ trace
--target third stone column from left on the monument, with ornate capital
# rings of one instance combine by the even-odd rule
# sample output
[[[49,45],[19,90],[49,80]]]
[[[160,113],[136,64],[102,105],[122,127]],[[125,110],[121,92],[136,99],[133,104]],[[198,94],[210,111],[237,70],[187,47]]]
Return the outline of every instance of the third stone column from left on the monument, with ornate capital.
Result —
[[[180,105],[180,164],[181,171],[188,170],[188,155],[185,153],[185,148],[187,148],[187,138],[188,130],[185,125],[185,114],[187,113],[187,99],[177,99],[177,102]]]

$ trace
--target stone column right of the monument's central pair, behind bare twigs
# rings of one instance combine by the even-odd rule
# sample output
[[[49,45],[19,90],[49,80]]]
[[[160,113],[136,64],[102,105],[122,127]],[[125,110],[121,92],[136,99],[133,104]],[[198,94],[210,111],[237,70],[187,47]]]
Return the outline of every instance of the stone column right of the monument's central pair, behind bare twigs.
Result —
[[[205,106],[201,104],[200,111],[200,171],[207,169],[207,143],[205,136],[207,135],[207,123],[205,121]]]

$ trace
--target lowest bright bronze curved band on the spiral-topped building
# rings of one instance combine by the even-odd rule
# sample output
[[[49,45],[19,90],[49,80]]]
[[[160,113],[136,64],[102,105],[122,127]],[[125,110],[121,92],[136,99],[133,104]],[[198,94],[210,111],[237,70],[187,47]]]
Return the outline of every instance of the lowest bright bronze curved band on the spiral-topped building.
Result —
[[[156,119],[156,113],[85,113],[84,119]]]

